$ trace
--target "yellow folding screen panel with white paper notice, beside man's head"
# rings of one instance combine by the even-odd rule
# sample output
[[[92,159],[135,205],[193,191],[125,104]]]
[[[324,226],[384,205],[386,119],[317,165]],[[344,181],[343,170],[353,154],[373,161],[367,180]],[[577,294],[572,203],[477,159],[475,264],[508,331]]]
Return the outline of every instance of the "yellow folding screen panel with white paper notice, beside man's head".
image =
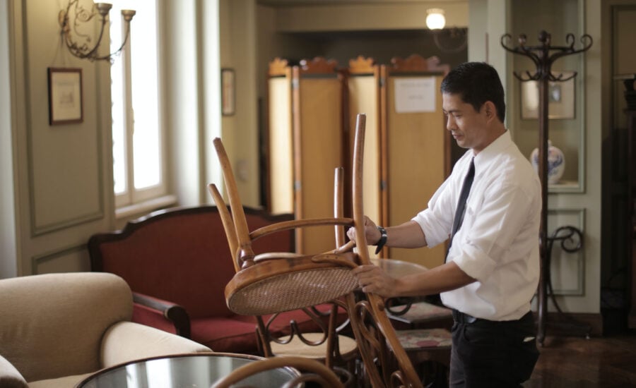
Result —
[[[393,59],[392,66],[382,66],[382,133],[386,139],[387,169],[382,180],[387,182],[386,225],[398,225],[411,219],[427,207],[428,200],[442,184],[450,168],[450,138],[442,113],[440,83],[448,66],[439,66],[437,58],[410,56],[406,60]],[[430,111],[402,113],[396,109],[396,83],[430,81],[434,104]],[[389,257],[418,262],[432,268],[444,262],[445,247],[418,250],[389,248]]]

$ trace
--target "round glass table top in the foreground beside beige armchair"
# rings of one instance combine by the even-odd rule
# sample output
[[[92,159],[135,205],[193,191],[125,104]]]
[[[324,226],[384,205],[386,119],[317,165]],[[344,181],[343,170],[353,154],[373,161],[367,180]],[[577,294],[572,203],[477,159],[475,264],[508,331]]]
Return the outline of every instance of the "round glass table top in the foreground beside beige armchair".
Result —
[[[209,388],[221,377],[258,356],[233,353],[192,353],[131,361],[90,375],[78,388]],[[298,370],[266,370],[242,380],[239,386],[281,387],[298,377]]]

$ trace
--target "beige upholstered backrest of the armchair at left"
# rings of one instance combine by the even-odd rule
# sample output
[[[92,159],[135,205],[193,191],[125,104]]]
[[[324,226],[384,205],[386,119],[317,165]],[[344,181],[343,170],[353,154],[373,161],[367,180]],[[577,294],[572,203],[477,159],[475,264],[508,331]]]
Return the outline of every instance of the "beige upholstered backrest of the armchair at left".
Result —
[[[103,334],[133,310],[129,286],[114,274],[2,279],[0,296],[0,355],[29,382],[98,370]]]

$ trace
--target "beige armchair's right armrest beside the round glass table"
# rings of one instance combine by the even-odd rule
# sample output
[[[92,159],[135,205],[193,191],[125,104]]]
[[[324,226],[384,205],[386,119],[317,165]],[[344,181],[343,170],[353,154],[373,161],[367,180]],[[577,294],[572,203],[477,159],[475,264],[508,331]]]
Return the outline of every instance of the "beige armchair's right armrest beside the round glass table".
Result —
[[[119,322],[102,339],[102,368],[141,358],[212,351],[191,339],[135,322]]]

